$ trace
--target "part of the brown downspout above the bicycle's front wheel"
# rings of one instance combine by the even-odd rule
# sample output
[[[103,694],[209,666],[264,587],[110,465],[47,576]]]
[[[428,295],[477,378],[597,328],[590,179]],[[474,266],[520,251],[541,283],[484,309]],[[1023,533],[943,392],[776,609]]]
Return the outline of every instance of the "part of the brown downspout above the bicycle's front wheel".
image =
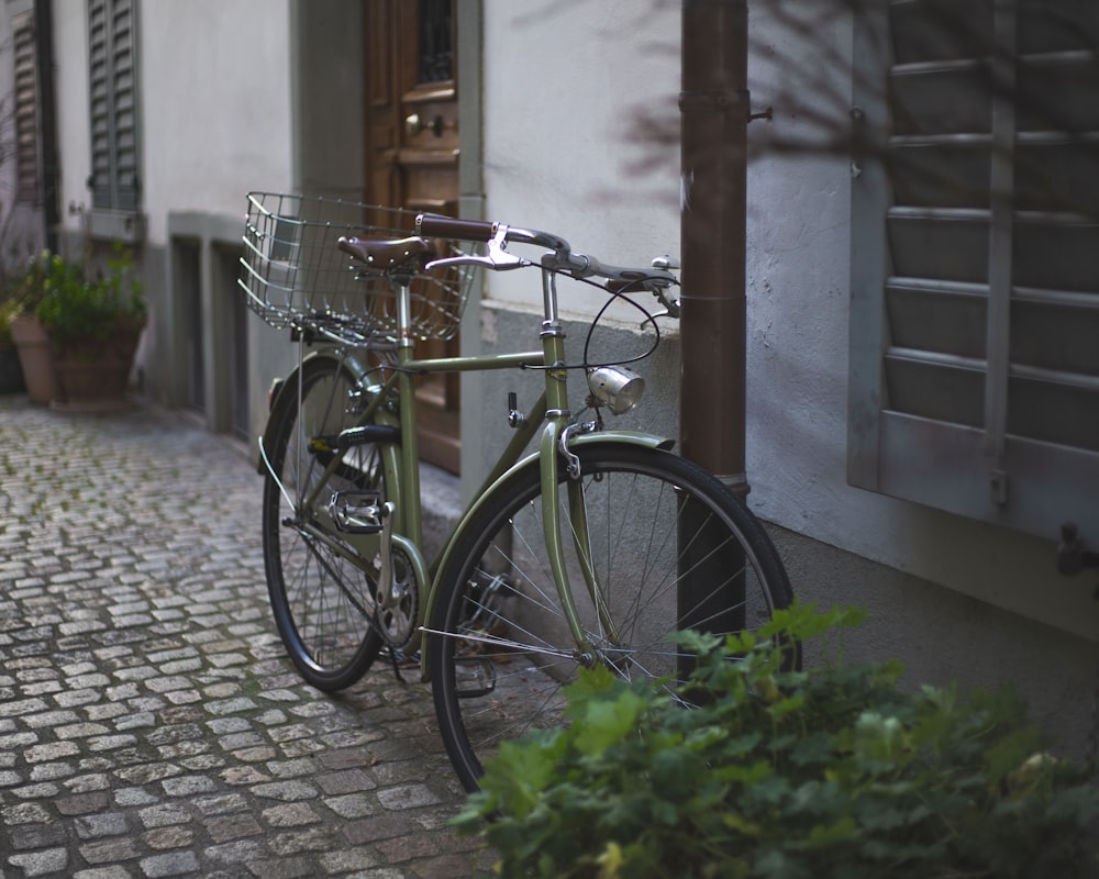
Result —
[[[682,371],[685,457],[739,494],[745,477],[747,0],[682,11]]]

